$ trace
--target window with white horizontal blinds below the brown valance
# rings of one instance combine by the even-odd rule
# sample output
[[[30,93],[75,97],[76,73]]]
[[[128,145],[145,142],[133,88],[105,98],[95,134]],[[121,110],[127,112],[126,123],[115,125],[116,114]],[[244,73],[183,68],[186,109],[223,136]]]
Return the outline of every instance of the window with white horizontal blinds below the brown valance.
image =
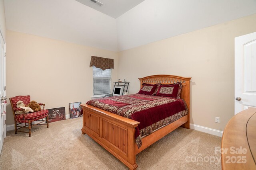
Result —
[[[111,93],[111,68],[102,70],[96,66],[93,69],[93,96],[103,96]]]

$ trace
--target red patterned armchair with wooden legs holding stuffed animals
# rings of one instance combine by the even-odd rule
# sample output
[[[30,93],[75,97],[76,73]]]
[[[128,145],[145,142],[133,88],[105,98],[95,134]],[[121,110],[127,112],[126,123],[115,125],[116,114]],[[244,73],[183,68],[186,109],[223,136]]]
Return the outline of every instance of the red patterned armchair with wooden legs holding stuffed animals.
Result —
[[[26,131],[18,131],[18,132],[24,132],[24,133],[28,133],[29,137],[31,136],[31,127],[35,126],[35,125],[46,125],[47,128],[49,127],[49,123],[48,123],[48,110],[46,109],[42,109],[40,111],[36,111],[33,113],[23,113],[23,114],[15,114],[15,111],[17,110],[21,110],[24,111],[22,108],[17,108],[16,107],[16,103],[18,101],[22,101],[25,105],[30,103],[30,96],[16,96],[13,98],[10,98],[10,103],[12,106],[12,113],[14,116],[14,125],[15,125],[15,134],[17,134],[18,129],[21,128],[26,128],[28,129],[28,132]],[[45,106],[45,104],[41,104],[38,103],[40,106]],[[45,118],[45,120],[44,120]],[[42,119],[42,120],[40,120]],[[39,121],[39,123],[36,122],[36,124],[32,124],[33,121]],[[45,123],[46,124],[41,124],[41,123]],[[17,124],[18,123],[18,124]],[[18,126],[20,124],[24,123],[24,126]],[[17,129],[18,127],[18,129]]]

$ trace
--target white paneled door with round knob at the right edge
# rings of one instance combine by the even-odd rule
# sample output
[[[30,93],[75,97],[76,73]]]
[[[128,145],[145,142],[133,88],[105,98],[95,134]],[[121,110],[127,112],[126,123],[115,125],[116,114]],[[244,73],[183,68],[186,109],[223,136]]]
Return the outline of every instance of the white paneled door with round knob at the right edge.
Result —
[[[256,107],[256,32],[235,38],[235,114]]]

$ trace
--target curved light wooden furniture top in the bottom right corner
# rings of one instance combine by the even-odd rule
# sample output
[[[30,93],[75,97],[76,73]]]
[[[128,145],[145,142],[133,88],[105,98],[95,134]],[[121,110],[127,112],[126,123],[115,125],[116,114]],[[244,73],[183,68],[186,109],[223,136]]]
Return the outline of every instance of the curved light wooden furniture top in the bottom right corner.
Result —
[[[223,170],[256,170],[256,108],[234,115],[222,136]]]

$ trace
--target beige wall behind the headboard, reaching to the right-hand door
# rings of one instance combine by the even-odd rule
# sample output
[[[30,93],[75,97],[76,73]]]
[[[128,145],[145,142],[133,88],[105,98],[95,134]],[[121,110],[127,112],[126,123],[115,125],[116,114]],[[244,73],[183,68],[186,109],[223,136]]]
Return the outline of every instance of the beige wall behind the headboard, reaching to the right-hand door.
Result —
[[[234,115],[234,37],[255,31],[256,14],[121,51],[118,78],[137,93],[144,76],[192,77],[190,123],[223,131]]]

